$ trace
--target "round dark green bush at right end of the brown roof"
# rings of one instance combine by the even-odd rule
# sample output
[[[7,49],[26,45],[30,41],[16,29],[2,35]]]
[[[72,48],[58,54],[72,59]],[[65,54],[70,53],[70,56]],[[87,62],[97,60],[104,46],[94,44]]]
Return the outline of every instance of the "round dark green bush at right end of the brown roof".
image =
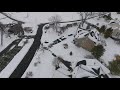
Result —
[[[92,55],[96,59],[100,59],[100,57],[104,54],[104,52],[105,52],[105,49],[102,45],[97,45],[91,50]]]

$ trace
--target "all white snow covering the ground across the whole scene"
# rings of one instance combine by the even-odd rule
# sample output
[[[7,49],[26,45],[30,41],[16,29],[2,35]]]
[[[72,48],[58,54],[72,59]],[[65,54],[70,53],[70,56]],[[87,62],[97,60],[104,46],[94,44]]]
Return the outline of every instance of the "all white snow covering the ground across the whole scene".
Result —
[[[17,12],[17,13],[8,12],[8,13],[11,14],[11,17],[14,17],[17,20],[26,22],[25,24],[23,24],[23,27],[33,28],[33,33],[30,33],[30,34],[25,33],[25,35],[35,35],[38,25],[40,23],[48,22],[48,19],[55,14],[60,15],[62,17],[62,21],[72,21],[72,20],[79,19],[79,15],[76,12]],[[120,16],[112,12],[112,18],[115,19],[116,17],[120,20]],[[92,18],[87,21],[94,25],[99,23],[98,25],[99,27],[101,27],[102,25],[106,25],[107,27],[110,27],[108,25],[108,22],[106,22],[103,18],[101,19]],[[6,24],[6,23],[13,22],[13,21],[9,19],[2,19],[2,22]],[[62,24],[61,26],[64,26],[64,25],[65,24]],[[83,48],[78,48],[73,44],[73,39],[74,39],[74,35],[76,34],[76,32],[77,32],[77,27],[74,26],[74,27],[67,29],[62,35],[58,36],[58,34],[55,31],[53,31],[51,28],[48,29],[47,33],[45,33],[45,30],[43,28],[43,36],[42,36],[41,42],[43,46],[48,47],[51,43],[53,43],[53,41],[64,36],[66,38],[65,40],[61,41],[60,43],[56,45],[53,45],[53,47],[51,47],[49,50],[55,53],[57,56],[62,57],[64,60],[71,62],[72,68],[74,68],[76,62],[80,60],[86,60],[87,62],[89,62],[89,64],[92,64],[92,62],[93,63],[97,62],[96,59],[92,59],[92,60],[86,59],[85,56],[91,55],[91,53]],[[69,36],[70,34],[73,34],[73,35]],[[0,47],[0,51],[2,51],[7,45],[9,45],[15,39],[16,37],[12,37],[11,39],[9,39],[9,38],[5,38],[4,36],[4,40],[5,40],[4,46]],[[104,46],[106,51],[104,55],[101,57],[101,59],[103,59],[103,61],[108,65],[109,61],[112,61],[116,54],[120,55],[120,46],[116,44],[114,40],[110,38],[108,39],[103,38],[103,39],[106,42],[106,46]],[[45,42],[48,42],[48,43],[45,43]],[[23,49],[13,58],[10,64],[8,64],[8,66],[0,73],[0,77],[8,78],[10,76],[10,74],[15,70],[15,68],[20,63],[24,55],[27,53],[32,43],[33,43],[33,39],[30,39],[29,43],[23,47]],[[68,44],[68,49],[65,49],[63,44]],[[20,43],[19,45],[21,46],[22,43]],[[59,71],[55,70],[55,67],[53,65],[54,57],[50,51],[48,50],[42,51],[41,49],[39,49],[34,55],[33,60],[31,61],[25,73],[23,74],[22,78],[26,78],[26,77],[29,77],[29,78],[60,78],[60,77],[67,78],[66,75],[63,75],[60,73],[60,71],[64,71],[64,70],[61,70],[61,69],[59,69]],[[70,52],[72,52],[72,55],[70,55]],[[92,64],[92,65],[88,65],[87,68],[91,66],[98,68],[100,65],[102,64],[99,63],[96,66]],[[106,67],[104,66],[101,66],[101,67],[104,68],[106,73],[109,73],[109,70]],[[32,72],[32,76],[28,76],[29,72]],[[83,72],[83,71],[81,70],[80,72]],[[66,73],[67,75],[70,74],[70,72],[67,72],[67,71],[64,71],[64,73]],[[86,72],[83,72],[83,73],[80,73],[79,75],[84,76],[84,75],[89,75],[89,74]],[[79,75],[77,77],[79,77]],[[119,76],[111,75],[111,77],[119,77]]]

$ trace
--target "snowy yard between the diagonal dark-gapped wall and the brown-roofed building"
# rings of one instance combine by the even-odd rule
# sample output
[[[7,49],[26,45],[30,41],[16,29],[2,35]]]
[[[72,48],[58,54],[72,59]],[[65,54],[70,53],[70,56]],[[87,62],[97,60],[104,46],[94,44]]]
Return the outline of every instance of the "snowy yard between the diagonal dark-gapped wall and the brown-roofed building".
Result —
[[[69,37],[65,41],[54,45],[50,50],[55,53],[57,56],[64,58],[66,61],[79,60],[86,55],[91,55],[90,52],[84,50],[83,48],[78,48],[72,43],[73,37]],[[68,49],[64,49],[63,44],[68,44]],[[70,52],[72,51],[73,55],[70,56]]]

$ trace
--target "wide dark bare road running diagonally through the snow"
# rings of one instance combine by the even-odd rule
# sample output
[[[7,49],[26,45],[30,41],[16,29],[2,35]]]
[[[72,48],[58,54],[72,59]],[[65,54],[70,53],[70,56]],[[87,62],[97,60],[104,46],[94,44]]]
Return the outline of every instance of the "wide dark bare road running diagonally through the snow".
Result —
[[[32,61],[36,50],[39,48],[41,44],[41,37],[42,37],[42,28],[45,24],[39,25],[39,28],[37,30],[37,34],[34,38],[34,42],[32,46],[30,47],[29,51],[25,55],[25,57],[22,59],[20,64],[17,66],[17,68],[14,70],[14,72],[10,75],[10,78],[21,78],[21,76],[24,74],[26,71],[27,67],[29,66],[30,62]]]

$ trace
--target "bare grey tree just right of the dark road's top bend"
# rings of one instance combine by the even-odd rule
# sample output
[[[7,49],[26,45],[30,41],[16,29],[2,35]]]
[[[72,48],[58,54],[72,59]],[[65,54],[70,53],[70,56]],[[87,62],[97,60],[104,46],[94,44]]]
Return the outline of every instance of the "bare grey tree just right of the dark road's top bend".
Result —
[[[49,18],[49,21],[50,21],[50,26],[53,28],[53,30],[55,30],[57,33],[60,33],[59,27],[62,18],[59,15],[55,15]]]

